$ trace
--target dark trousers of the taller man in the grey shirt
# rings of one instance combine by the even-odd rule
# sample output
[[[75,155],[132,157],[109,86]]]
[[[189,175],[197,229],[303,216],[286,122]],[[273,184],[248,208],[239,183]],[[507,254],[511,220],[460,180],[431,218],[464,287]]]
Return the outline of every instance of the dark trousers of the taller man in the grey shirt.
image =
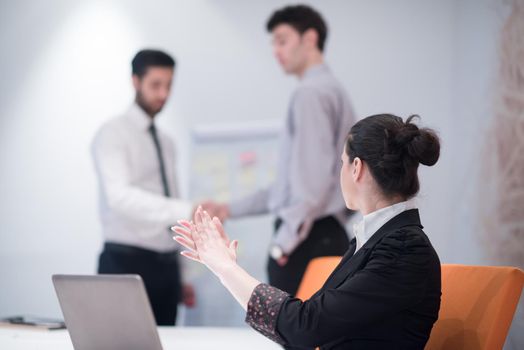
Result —
[[[275,222],[278,230],[281,220]],[[291,295],[295,295],[304,275],[307,264],[319,256],[342,256],[349,247],[349,238],[344,227],[333,216],[315,221],[308,237],[288,257],[288,262],[280,266],[270,256],[267,264],[269,284]]]

